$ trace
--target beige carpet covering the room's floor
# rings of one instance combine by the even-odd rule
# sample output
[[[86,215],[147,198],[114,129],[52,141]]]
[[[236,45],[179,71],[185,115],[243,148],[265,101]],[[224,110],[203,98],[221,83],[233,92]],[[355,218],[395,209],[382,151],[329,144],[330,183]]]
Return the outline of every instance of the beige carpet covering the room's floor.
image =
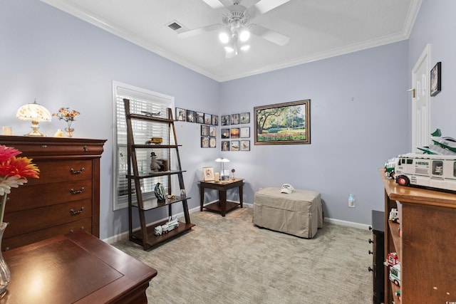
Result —
[[[300,239],[254,226],[249,208],[190,218],[192,231],[151,251],[113,244],[157,269],[149,303],[372,303],[370,231],[325,223]]]

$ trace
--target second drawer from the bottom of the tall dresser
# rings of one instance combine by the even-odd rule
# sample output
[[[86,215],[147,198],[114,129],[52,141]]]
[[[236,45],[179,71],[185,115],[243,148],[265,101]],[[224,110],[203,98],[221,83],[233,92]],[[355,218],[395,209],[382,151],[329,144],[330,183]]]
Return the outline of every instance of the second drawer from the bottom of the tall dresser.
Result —
[[[92,201],[90,199],[9,212],[4,218],[4,221],[9,223],[4,238],[91,217]]]

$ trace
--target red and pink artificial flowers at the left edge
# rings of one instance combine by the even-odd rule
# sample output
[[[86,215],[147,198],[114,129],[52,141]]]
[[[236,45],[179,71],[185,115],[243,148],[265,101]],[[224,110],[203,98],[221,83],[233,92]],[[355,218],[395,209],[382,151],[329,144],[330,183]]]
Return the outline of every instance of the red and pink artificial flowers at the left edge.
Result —
[[[6,196],[11,193],[11,188],[18,188],[27,182],[27,177],[38,179],[40,170],[28,157],[16,157],[22,152],[13,147],[0,145],[0,224],[3,223],[5,214]]]

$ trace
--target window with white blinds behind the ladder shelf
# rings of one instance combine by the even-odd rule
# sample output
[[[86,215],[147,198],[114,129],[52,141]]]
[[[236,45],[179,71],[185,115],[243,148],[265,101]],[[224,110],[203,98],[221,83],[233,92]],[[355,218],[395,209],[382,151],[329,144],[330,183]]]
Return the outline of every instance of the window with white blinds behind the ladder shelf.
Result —
[[[167,117],[167,108],[174,108],[174,98],[142,88],[126,85],[113,81],[113,209],[123,209],[128,207],[128,173],[127,159],[127,124],[125,120],[125,108],[123,99],[130,100],[130,112],[142,114],[141,111],[157,113],[158,117]],[[163,144],[172,144],[169,130],[166,124],[153,124],[141,120],[132,120],[134,140],[136,144],[143,144],[151,137],[162,137]],[[149,172],[150,169],[150,152],[151,150],[137,150],[138,170],[140,172]],[[167,159],[167,149],[154,150],[157,159]],[[172,156],[172,155],[171,155]],[[153,196],[155,184],[160,182],[166,188],[168,179],[160,177],[157,179],[142,180],[141,192],[143,198]],[[133,186],[134,191],[134,186]]]

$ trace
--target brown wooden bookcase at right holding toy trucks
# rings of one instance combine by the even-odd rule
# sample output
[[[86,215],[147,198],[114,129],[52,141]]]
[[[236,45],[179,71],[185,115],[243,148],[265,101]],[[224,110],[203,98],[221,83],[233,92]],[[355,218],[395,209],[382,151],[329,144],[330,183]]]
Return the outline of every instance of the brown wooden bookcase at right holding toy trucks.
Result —
[[[379,173],[385,188],[385,256],[398,253],[401,275],[399,288],[389,281],[385,266],[385,303],[455,301],[456,194],[403,187],[387,179],[383,169]],[[390,209],[399,204],[400,224],[390,223]]]

